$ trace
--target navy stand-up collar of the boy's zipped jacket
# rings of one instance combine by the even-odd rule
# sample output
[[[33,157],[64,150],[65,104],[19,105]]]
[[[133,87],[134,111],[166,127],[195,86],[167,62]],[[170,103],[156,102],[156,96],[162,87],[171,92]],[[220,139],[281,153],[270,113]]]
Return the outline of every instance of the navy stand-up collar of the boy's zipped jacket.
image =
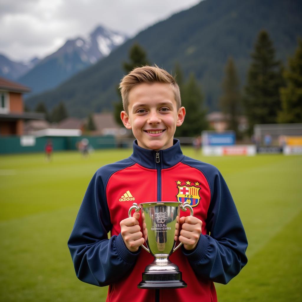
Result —
[[[159,163],[156,163],[157,152],[159,153]],[[130,158],[148,169],[156,169],[159,165],[161,169],[167,169],[180,162],[184,158],[184,155],[177,139],[173,139],[172,147],[159,151],[144,149],[138,146],[137,140],[135,140],[133,142],[133,154]]]

